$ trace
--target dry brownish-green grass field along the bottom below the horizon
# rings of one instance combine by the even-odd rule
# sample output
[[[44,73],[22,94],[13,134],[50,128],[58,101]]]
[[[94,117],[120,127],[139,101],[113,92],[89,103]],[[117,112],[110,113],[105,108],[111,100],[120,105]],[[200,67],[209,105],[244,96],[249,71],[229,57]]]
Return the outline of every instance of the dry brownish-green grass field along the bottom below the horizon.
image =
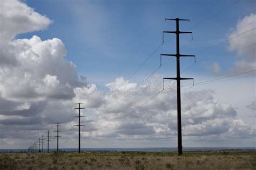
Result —
[[[0,169],[256,169],[256,150],[0,153]]]

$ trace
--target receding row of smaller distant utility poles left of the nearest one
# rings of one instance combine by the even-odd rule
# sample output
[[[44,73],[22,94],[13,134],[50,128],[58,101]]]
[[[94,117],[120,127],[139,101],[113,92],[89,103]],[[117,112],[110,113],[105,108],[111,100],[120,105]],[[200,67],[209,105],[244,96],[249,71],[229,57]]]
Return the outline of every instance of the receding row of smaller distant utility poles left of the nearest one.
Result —
[[[73,117],[78,117],[78,125],[74,125],[74,126],[78,126],[78,152],[80,153],[80,126],[84,126],[83,124],[80,124],[80,118],[81,117],[86,117],[86,116],[81,116],[80,115],[80,110],[81,109],[85,109],[85,108],[81,108],[80,105],[83,104],[83,103],[76,103],[78,104],[78,108],[74,108],[74,109],[78,109],[78,116],[73,116]],[[59,152],[59,132],[61,132],[59,130],[59,127],[61,126],[59,122],[56,123],[55,125],[57,127],[57,130],[55,132],[57,132],[57,152]],[[47,135],[47,140],[48,141],[48,147],[47,147],[47,152],[49,152],[49,134],[50,134],[50,131],[48,130],[46,132],[48,135]],[[29,146],[28,147],[28,152],[44,152],[44,135],[42,135],[42,139],[39,138],[38,141],[36,141],[35,143],[33,143],[33,145]],[[40,150],[40,144],[42,144],[42,151]]]

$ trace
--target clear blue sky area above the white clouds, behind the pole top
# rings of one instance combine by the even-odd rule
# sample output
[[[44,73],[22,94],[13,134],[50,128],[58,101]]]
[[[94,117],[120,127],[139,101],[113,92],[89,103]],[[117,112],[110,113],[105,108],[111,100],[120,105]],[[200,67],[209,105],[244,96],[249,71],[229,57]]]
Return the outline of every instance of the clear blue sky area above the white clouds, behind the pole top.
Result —
[[[30,38],[37,34],[41,39],[61,39],[68,51],[66,58],[77,66],[79,75],[90,82],[105,84],[117,76],[125,79],[134,72],[162,41],[162,31],[174,31],[175,23],[164,22],[164,18],[185,18],[191,22],[180,22],[180,30],[203,22],[222,11],[235,1],[25,1],[35,11],[46,15],[53,24],[47,30],[25,33],[17,38]],[[192,54],[207,46],[228,38],[239,18],[255,10],[255,1],[239,1],[218,15],[189,30],[191,35],[180,36],[181,53]],[[164,23],[163,23],[164,22]],[[173,35],[166,34],[165,39]],[[159,66],[160,53],[175,53],[175,39],[166,42],[131,81],[143,80]],[[187,44],[187,45],[186,45]],[[182,47],[186,45],[183,49]],[[206,63],[217,61],[221,70],[233,65],[234,54],[227,52],[228,43],[223,43],[197,54],[197,60],[211,58]],[[136,52],[134,52],[136,51]],[[128,59],[127,59],[128,58]],[[164,60],[167,60],[166,57]],[[172,59],[173,60],[173,59]],[[125,62],[126,61],[126,62]],[[181,70],[194,59],[181,62]],[[125,63],[124,63],[125,62]],[[174,76],[175,63],[161,68],[158,73]],[[184,76],[205,74],[205,66],[198,64],[188,69]],[[211,76],[211,73],[209,76]]]

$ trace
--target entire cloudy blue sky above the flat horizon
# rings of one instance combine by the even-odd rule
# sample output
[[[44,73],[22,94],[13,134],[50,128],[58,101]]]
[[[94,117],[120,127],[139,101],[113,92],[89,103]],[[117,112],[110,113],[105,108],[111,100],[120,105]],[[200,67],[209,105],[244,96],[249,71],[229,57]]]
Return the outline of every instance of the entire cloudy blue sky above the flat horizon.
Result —
[[[183,147],[256,147],[256,1],[0,0],[1,148],[54,123],[60,147],[176,147],[180,21]],[[196,62],[195,62],[196,61]],[[223,78],[224,77],[224,78]],[[206,81],[206,82],[205,82]],[[53,136],[53,135],[52,135]],[[55,138],[50,147],[56,147]]]

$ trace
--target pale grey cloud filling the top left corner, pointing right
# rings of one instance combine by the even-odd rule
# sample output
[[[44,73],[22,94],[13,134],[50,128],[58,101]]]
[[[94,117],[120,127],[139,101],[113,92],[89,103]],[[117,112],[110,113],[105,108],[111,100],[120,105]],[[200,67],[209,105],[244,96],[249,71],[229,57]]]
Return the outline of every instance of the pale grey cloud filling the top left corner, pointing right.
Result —
[[[11,41],[17,34],[46,29],[52,21],[35,12],[25,3],[16,0],[1,0],[1,42]]]

